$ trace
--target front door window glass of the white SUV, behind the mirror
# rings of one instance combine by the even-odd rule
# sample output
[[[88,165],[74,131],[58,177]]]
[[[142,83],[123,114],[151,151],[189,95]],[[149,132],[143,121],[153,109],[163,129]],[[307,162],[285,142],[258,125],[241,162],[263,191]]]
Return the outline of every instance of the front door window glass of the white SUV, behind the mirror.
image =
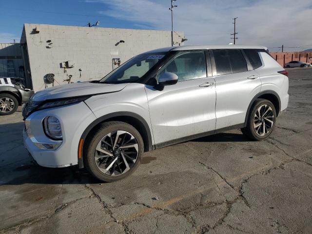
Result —
[[[178,81],[207,77],[206,57],[204,51],[179,52],[168,62],[157,75],[172,72],[178,76]]]

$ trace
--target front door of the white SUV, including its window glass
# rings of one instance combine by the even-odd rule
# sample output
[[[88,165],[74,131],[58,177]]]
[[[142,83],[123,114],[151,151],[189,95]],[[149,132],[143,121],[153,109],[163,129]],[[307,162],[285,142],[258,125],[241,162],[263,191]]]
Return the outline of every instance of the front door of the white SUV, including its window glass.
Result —
[[[215,130],[215,80],[207,76],[205,51],[181,51],[157,74],[178,82],[156,90],[146,85],[155,144]],[[169,143],[168,142],[168,143]]]

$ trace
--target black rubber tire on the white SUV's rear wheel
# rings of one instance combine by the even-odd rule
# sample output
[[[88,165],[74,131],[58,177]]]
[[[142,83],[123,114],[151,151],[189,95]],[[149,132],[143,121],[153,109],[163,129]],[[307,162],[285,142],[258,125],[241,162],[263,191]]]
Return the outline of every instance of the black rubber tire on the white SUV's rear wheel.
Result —
[[[265,105],[269,106],[271,109]],[[260,108],[260,112],[262,110],[268,110],[267,113],[270,116],[267,116],[267,118],[261,117],[260,119],[258,119],[258,117],[255,117],[255,114],[259,108]],[[268,109],[265,109],[265,108],[268,108]],[[257,116],[258,115],[261,116],[260,112],[257,113]],[[262,113],[262,114],[264,114],[264,113]],[[271,117],[271,114],[273,117]],[[254,123],[254,121],[256,123]],[[273,121],[273,123],[271,121]],[[250,110],[250,114],[248,115],[247,126],[245,128],[241,128],[240,130],[242,131],[242,133],[246,137],[248,137],[252,140],[264,140],[264,139],[268,138],[271,135],[271,133],[273,132],[274,127],[275,127],[275,121],[276,121],[276,111],[275,111],[275,107],[274,107],[273,103],[267,99],[256,99],[252,105],[252,108]],[[257,126],[259,124],[261,124],[261,125],[260,125],[260,127],[257,127],[258,131],[256,131],[255,126]],[[272,125],[272,126],[270,127],[269,125]],[[264,126],[263,127],[264,131],[263,131],[262,126]],[[263,136],[261,136],[261,134],[263,134]]]

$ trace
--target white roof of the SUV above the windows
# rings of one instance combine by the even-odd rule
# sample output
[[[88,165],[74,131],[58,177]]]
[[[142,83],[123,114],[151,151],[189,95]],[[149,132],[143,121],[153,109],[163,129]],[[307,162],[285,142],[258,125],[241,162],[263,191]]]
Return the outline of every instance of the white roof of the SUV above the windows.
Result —
[[[145,53],[161,53],[168,51],[179,51],[179,50],[208,50],[208,49],[265,49],[265,46],[254,46],[254,45],[181,45],[173,47],[164,47],[156,50],[151,50]],[[145,54],[144,53],[144,54]]]

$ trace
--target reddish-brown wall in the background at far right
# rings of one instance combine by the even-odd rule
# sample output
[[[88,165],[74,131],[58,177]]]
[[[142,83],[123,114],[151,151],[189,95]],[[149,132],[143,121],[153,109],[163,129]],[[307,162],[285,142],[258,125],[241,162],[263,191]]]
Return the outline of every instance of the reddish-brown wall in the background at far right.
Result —
[[[312,52],[271,52],[271,56],[284,67],[292,60],[312,63]]]

